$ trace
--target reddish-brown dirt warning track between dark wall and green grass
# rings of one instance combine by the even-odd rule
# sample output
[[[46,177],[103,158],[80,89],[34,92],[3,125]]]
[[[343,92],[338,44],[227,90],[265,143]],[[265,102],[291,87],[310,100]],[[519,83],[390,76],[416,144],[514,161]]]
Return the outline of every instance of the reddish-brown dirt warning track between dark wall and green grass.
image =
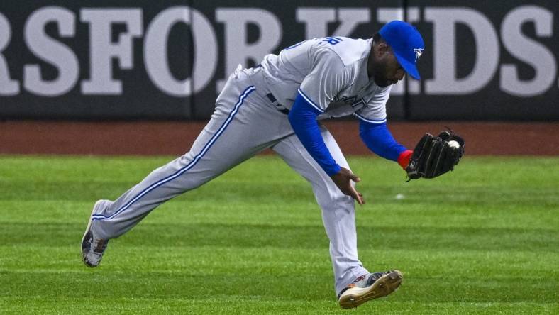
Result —
[[[181,155],[205,122],[0,123],[0,154]],[[370,151],[356,121],[328,121],[346,155]],[[450,126],[466,140],[467,155],[559,155],[559,123],[429,122],[390,123],[394,138],[413,148],[425,133]]]

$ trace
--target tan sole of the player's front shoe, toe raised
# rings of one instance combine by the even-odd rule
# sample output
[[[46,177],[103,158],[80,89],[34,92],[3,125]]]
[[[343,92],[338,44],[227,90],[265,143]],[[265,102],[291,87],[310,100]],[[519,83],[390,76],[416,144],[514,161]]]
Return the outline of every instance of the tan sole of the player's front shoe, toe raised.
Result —
[[[380,277],[369,287],[350,288],[341,295],[340,306],[343,309],[353,309],[371,299],[386,297],[398,289],[400,284],[402,284],[402,278],[402,272],[394,270],[388,275]]]

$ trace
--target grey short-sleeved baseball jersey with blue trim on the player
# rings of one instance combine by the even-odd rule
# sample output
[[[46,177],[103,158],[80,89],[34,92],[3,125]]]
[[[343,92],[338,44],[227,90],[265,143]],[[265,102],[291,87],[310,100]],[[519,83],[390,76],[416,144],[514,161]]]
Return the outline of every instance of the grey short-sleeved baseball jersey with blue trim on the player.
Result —
[[[355,114],[370,123],[386,121],[392,85],[378,87],[367,74],[372,38],[314,38],[262,61],[265,82],[291,109],[297,90],[322,114],[319,119]]]

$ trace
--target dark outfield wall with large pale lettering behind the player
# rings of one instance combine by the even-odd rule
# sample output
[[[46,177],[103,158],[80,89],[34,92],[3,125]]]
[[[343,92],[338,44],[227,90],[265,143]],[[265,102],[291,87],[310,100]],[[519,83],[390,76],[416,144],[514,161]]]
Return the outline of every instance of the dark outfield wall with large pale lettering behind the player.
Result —
[[[442,3],[0,0],[0,119],[207,119],[238,63],[404,19],[424,80],[394,87],[389,118],[559,121],[557,2]]]

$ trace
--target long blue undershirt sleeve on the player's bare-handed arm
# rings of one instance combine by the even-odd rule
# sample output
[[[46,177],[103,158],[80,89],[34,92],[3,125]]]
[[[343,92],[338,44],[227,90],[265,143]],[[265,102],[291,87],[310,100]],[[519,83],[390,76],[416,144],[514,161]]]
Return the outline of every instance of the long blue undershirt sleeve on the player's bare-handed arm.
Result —
[[[319,163],[326,174],[332,176],[340,172],[341,167],[333,159],[322,139],[319,123],[316,122],[316,116],[319,114],[320,111],[299,94],[289,111],[289,123],[309,154]]]

